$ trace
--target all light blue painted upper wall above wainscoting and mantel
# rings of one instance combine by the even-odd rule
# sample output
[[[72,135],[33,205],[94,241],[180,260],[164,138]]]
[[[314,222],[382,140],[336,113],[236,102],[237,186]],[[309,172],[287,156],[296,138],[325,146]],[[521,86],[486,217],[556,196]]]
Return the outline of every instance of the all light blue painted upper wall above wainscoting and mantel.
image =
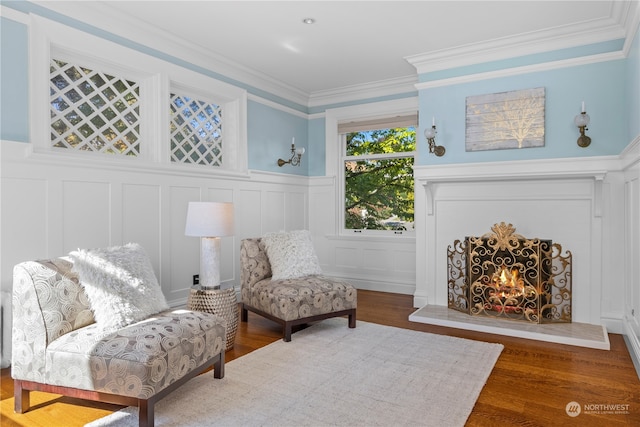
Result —
[[[185,63],[179,58],[151,50],[135,41],[126,40],[116,34],[89,27],[84,23],[53,14],[42,6],[29,2],[5,2],[4,6],[25,13],[37,13],[66,25],[104,37],[140,52],[201,72],[227,83],[245,88],[250,94],[260,96],[283,105],[301,114],[321,114],[327,108],[310,109],[283,100],[277,95],[244,85],[230,76],[219,76],[210,70]],[[1,68],[0,84],[1,115],[0,137],[6,140],[29,142],[28,112],[28,32],[26,25],[7,18],[0,18]],[[474,163],[496,160],[544,159],[580,156],[619,154],[640,133],[640,42],[636,34],[627,59],[575,66],[571,68],[542,71],[518,76],[482,80],[471,83],[423,89],[419,92],[419,113],[423,123],[419,129],[419,155],[417,164]],[[10,41],[10,43],[9,43]],[[564,49],[547,54],[529,55],[505,61],[495,61],[477,66],[460,67],[437,73],[422,74],[419,81],[429,82],[442,78],[470,75],[514,66],[525,66],[545,61],[570,59],[582,55],[593,55],[616,51],[621,41],[599,43],[575,49]],[[511,90],[544,87],[545,146],[521,150],[491,150],[466,152],[464,149],[465,99],[470,95],[497,93]],[[396,98],[411,96],[400,94]],[[367,103],[376,100],[366,100]],[[579,113],[585,101],[591,116],[588,135],[592,144],[580,148],[575,143],[578,130],[573,117]],[[357,102],[349,103],[349,105]],[[425,125],[430,126],[431,117],[436,117],[437,142],[447,149],[444,157],[436,158],[426,153],[423,136]],[[250,101],[248,104],[248,164],[249,168],[296,175],[323,176],[325,174],[325,125],[324,119],[305,119],[300,114],[283,112],[280,109]],[[290,155],[291,138],[296,146],[307,152],[300,167],[279,168],[279,157]]]

